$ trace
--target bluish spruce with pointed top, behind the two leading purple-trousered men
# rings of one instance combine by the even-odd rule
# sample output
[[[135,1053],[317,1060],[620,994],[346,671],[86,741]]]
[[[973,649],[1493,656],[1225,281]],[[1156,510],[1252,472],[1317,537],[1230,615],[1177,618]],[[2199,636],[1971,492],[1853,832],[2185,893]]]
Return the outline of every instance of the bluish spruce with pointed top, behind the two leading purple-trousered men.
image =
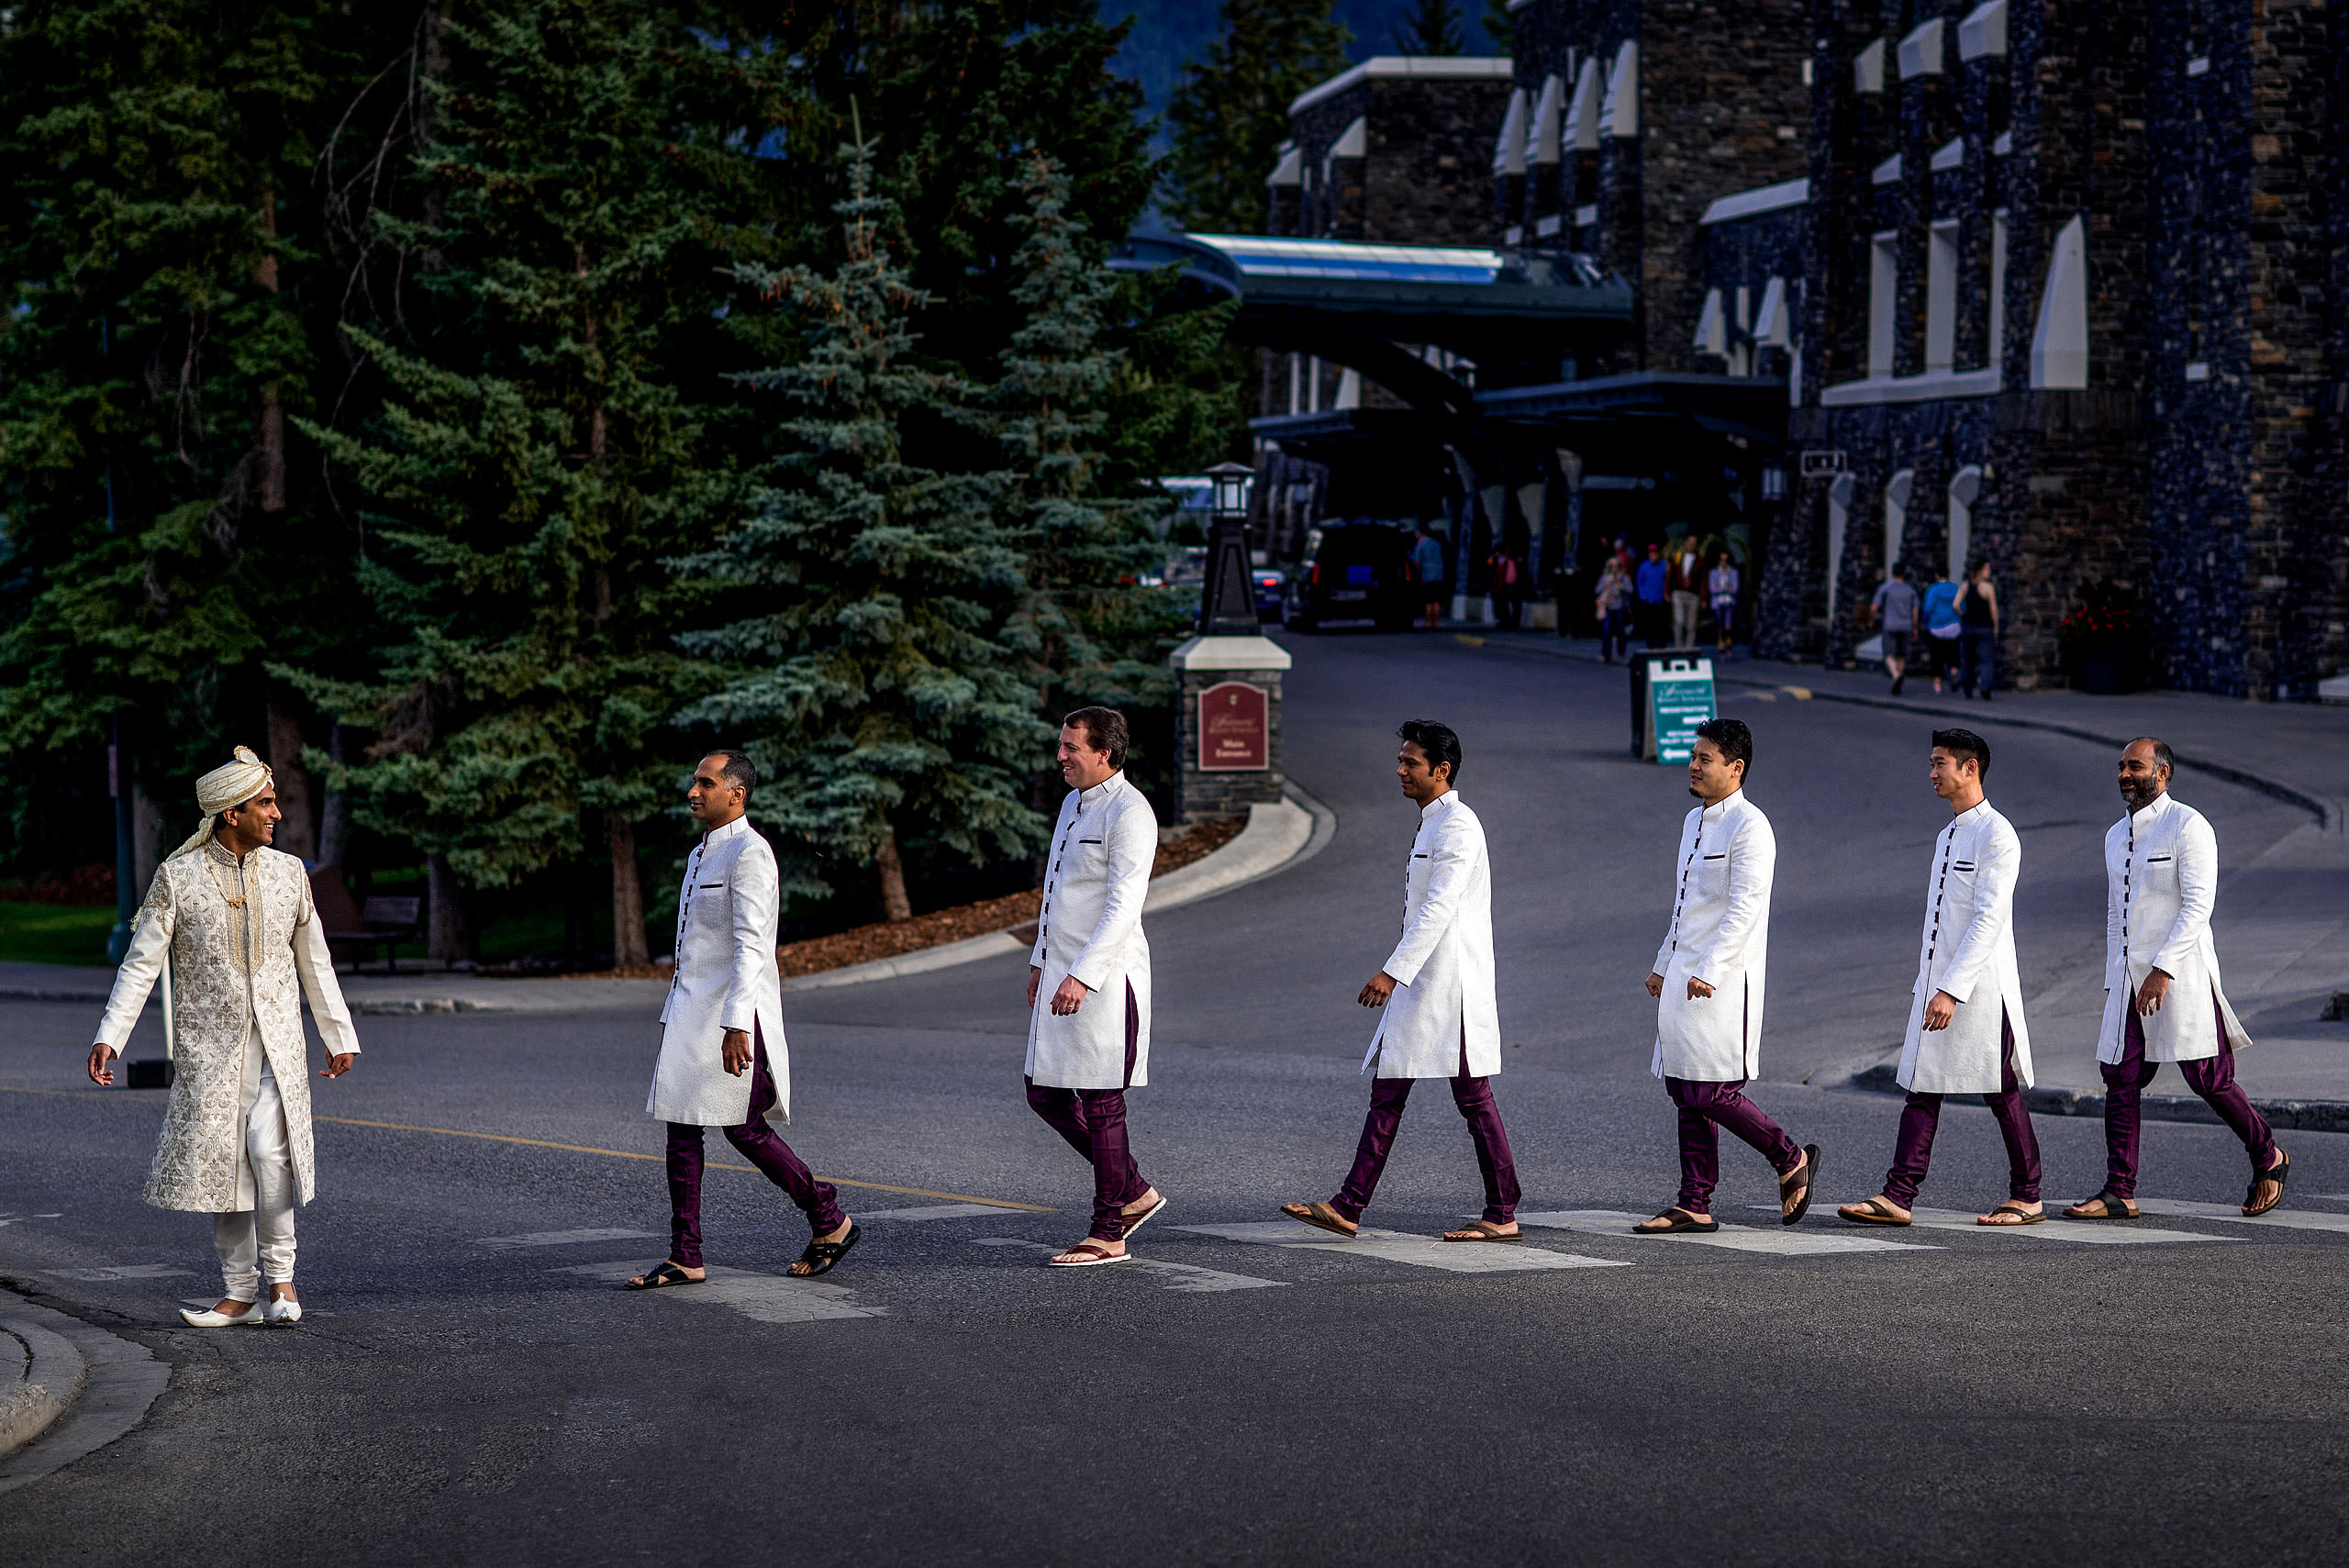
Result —
[[[1052,732],[991,636],[1022,592],[996,523],[1003,479],[904,455],[907,415],[954,411],[965,387],[916,364],[928,296],[883,242],[897,214],[874,192],[874,146],[860,136],[843,157],[843,261],[740,270],[803,343],[747,378],[792,408],[775,484],[716,549],[681,561],[747,610],[681,638],[728,667],[684,721],[745,735],[761,768],[787,770],[752,810],[785,836],[792,890],[836,890],[827,861],[869,864],[883,913],[907,920],[909,836],[970,861],[1043,840],[1022,786]]]

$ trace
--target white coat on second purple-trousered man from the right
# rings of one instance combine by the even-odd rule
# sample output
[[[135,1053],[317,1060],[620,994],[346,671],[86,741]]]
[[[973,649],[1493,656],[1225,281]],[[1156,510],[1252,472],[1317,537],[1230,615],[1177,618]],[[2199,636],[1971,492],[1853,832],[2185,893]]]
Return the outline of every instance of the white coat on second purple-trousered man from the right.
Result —
[[[1903,1089],[1917,1094],[1999,1094],[2006,1052],[1999,1014],[2015,1030],[2015,1082],[2032,1082],[2032,1033],[2022,1023],[2022,969],[2015,965],[2015,878],[2022,838],[1990,800],[1959,812],[1933,845],[1917,941],[1917,995],[1900,1045]],[[1933,993],[1957,1000],[1950,1028],[1929,1030]]]

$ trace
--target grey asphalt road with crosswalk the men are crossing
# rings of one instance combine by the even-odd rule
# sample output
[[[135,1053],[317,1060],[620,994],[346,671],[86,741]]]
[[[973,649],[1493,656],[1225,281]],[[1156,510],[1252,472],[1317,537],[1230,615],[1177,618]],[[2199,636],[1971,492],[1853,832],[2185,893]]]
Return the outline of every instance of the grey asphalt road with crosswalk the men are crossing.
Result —
[[[310,1317],[188,1331],[171,1310],[216,1291],[204,1221],[136,1199],[162,1099],[78,1087],[94,1009],[0,1005],[0,1282],[174,1364],[146,1425],[0,1498],[0,1561],[2337,1561],[2349,1141],[2286,1138],[2288,1214],[2318,1228],[1863,1235],[1828,1211],[1891,1150],[1898,1101],[1799,1080],[1905,1016],[1945,810],[1912,718],[1731,704],[1781,840],[1755,1096],[1825,1145],[1820,1211],[1769,1225],[1771,1176],[1731,1143],[1738,1246],[1590,1218],[1654,1211],[1675,1176],[1640,979],[1687,796],[1623,756],[1623,704],[1621,674],[1449,638],[1301,646],[1290,768],[1337,838],[1151,922],[1135,1138],[1172,1197],[1137,1244],[1151,1268],[1038,1268],[1083,1232],[1085,1174],[1019,1099],[1012,960],[787,1000],[789,1136],[874,1183],[843,1190],[869,1235],[817,1286],[778,1279],[796,1214],[716,1171],[709,1256],[735,1272],[613,1289],[662,1251],[651,1016],[362,1019],[359,1070],[317,1094],[343,1122],[301,1221]],[[1499,1094],[1550,1223],[1440,1251],[1184,1230],[1271,1223],[1344,1174],[1367,1094],[1351,998],[1412,833],[1405,716],[1466,737],[1517,1047]],[[2112,768],[1992,739],[2032,991],[2098,958]],[[2227,859],[2297,826],[2246,791],[2192,798]],[[2039,1136],[2051,1199],[2095,1190],[2093,1122]],[[2225,1129],[2145,1138],[2147,1197],[2239,1202]],[[1952,1106],[1924,1202],[2001,1190],[1987,1113]],[[1369,1221],[1423,1237],[1475,1202],[1428,1084]]]

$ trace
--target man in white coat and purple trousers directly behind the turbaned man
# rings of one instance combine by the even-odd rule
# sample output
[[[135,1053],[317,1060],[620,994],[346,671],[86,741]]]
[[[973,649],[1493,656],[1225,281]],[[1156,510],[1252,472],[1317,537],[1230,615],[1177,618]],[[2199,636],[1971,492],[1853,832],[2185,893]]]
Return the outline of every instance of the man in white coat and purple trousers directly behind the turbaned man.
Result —
[[[702,840],[677,890],[677,972],[660,1009],[660,1054],[644,1110],[667,1124],[669,1256],[634,1275],[632,1291],[702,1284],[702,1129],[726,1141],[808,1218],[808,1246],[792,1275],[839,1268],[862,1239],[839,1192],[817,1181],[773,1122],[792,1120],[792,1047],[782,1035],[782,972],[775,925],[782,873],[749,824],[759,770],[740,751],[712,751],[693,768],[686,810]]]

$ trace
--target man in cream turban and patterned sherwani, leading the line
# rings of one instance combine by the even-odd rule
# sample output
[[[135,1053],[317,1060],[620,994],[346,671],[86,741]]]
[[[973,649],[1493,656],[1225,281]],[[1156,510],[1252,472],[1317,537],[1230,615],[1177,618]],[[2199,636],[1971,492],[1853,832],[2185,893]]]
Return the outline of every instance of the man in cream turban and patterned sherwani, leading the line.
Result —
[[[327,1042],[319,1077],[341,1077],[359,1056],[310,878],[270,847],[282,817],[275,775],[247,746],[233,758],[195,782],[204,819],[155,869],[89,1047],[89,1080],[113,1087],[108,1063],[169,962],[174,1077],[143,1197],[211,1214],[221,1300],[181,1310],[193,1329],[301,1322],[294,1211],[317,1195],[305,993]]]

